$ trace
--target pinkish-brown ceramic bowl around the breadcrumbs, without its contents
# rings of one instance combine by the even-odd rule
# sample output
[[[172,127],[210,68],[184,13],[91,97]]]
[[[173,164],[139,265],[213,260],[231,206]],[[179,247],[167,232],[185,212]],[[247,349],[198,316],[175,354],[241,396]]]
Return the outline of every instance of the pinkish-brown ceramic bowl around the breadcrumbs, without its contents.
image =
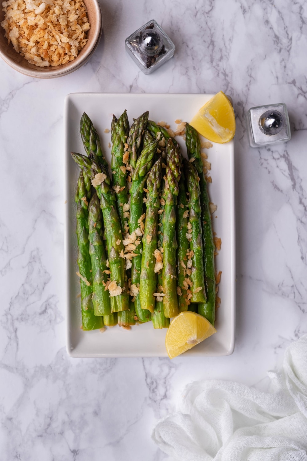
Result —
[[[67,64],[37,67],[24,59],[19,53],[16,53],[12,43],[7,44],[7,38],[4,36],[5,30],[0,27],[0,56],[13,69],[24,75],[35,78],[54,78],[62,77],[79,69],[93,55],[98,46],[102,33],[102,16],[98,0],[83,0],[87,7],[88,22],[91,28],[87,32],[87,43],[78,53],[78,56]],[[2,0],[0,0],[2,4]],[[0,8],[0,22],[4,19],[4,12]]]

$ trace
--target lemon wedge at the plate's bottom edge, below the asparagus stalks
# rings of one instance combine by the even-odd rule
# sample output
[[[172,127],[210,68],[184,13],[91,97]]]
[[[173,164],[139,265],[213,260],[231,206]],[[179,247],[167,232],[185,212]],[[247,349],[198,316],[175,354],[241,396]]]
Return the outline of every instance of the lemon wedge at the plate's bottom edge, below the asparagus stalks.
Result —
[[[171,321],[166,333],[168,357],[174,359],[214,333],[214,326],[202,315],[191,311],[181,312]]]

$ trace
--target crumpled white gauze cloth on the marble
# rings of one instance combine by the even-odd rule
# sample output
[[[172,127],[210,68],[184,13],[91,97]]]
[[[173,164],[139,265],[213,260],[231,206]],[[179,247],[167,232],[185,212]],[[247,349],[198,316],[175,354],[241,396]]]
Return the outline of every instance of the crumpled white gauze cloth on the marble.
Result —
[[[231,381],[189,384],[154,441],[180,461],[307,461],[307,335],[268,374],[271,393]]]

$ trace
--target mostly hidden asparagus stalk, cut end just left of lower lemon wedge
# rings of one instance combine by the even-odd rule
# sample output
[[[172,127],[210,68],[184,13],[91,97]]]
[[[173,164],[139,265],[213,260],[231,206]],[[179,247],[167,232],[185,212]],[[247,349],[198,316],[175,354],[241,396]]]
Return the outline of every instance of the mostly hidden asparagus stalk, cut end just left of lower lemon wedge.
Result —
[[[159,214],[159,222],[158,222],[158,248],[161,248],[163,245],[163,214],[164,214],[164,208],[165,208],[165,199],[166,195],[164,193],[164,179],[162,179],[161,183],[161,190],[163,191],[162,195],[162,200],[160,204],[160,211],[158,212]],[[163,247],[162,247],[163,248]],[[163,258],[163,254],[162,254]],[[158,285],[157,285],[157,292],[162,293],[163,291],[163,280],[162,280],[162,270],[158,272]],[[169,325],[169,319],[168,317],[165,317],[164,315],[164,309],[163,309],[163,301],[160,301],[159,299],[156,299],[156,304],[155,304],[155,310],[151,314],[151,320],[152,320],[152,325],[154,328],[168,328]]]

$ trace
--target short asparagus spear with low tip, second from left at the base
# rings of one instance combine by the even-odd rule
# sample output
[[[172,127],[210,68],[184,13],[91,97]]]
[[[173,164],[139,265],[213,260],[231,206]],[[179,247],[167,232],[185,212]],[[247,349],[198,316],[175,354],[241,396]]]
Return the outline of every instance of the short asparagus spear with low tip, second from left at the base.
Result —
[[[92,262],[93,276],[93,306],[95,315],[110,315],[109,291],[105,290],[108,281],[107,258],[105,256],[103,235],[102,235],[102,213],[100,202],[96,193],[91,198],[88,208],[89,225],[89,253]]]

